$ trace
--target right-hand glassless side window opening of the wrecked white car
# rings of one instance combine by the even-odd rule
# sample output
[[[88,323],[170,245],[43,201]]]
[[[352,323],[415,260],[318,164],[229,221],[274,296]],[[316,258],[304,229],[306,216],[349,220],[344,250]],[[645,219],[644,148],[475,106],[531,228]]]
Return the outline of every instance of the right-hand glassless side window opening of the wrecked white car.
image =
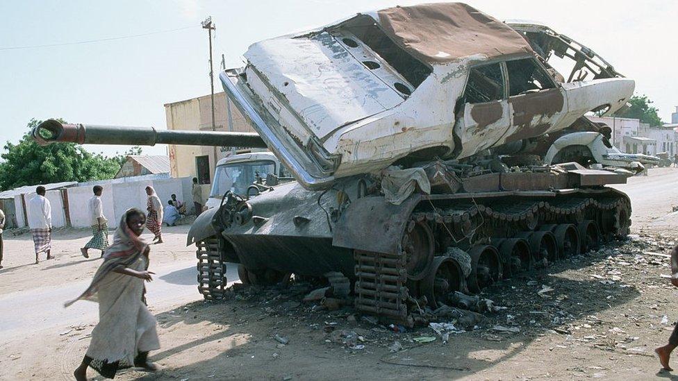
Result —
[[[506,61],[506,71],[509,73],[509,96],[556,87],[551,76],[534,58]]]

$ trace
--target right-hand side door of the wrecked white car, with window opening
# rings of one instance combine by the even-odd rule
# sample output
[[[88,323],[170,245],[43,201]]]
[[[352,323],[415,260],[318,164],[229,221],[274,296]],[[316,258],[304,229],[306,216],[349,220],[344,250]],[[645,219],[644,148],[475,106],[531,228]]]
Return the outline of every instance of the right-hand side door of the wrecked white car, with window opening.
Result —
[[[558,126],[568,110],[565,90],[535,58],[509,60],[505,65],[511,128],[499,143],[537,137]]]

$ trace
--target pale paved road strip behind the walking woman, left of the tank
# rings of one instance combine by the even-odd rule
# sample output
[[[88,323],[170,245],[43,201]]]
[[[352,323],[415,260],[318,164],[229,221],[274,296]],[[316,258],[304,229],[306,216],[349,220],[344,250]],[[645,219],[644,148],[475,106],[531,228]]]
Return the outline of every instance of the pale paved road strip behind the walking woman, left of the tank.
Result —
[[[237,265],[230,264],[227,269],[229,285],[237,282]],[[154,311],[202,298],[197,291],[195,260],[178,260],[151,270],[156,273],[156,278],[147,285],[147,298]],[[35,330],[98,321],[97,303],[78,301],[67,309],[63,307],[66,300],[84,291],[89,282],[83,280],[49,289],[30,289],[0,296],[0,342]]]

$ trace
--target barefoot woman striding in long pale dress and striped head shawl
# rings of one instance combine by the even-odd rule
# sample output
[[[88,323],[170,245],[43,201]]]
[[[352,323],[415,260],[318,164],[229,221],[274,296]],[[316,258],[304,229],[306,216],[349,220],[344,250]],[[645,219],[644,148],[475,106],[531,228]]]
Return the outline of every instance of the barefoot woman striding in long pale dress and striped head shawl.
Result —
[[[106,378],[131,366],[157,369],[147,360],[149,351],[159,349],[160,342],[156,319],[144,298],[144,281],[150,282],[153,274],[148,271],[149,246],[139,237],[145,220],[141,210],[125,212],[90,287],[65,303],[68,307],[81,299],[99,302],[99,324],[92,330],[82,364],[73,373],[78,381],[87,380],[88,366]]]

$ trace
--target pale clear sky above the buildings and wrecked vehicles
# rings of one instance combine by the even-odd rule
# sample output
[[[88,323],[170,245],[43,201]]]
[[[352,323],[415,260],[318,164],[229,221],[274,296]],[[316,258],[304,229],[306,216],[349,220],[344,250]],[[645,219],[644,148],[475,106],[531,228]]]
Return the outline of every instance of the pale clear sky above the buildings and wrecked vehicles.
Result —
[[[252,42],[302,31],[356,12],[422,1],[35,1],[0,2],[0,144],[17,142],[31,118],[166,128],[165,103],[209,93],[207,32],[217,26],[235,67]],[[429,0],[430,2],[430,0]],[[636,80],[664,121],[678,105],[678,1],[468,0],[499,19],[529,19],[597,51]],[[155,33],[182,28],[179,31]],[[104,42],[61,44],[155,33]],[[217,90],[221,90],[215,83]],[[114,154],[121,146],[89,146]],[[144,149],[164,154],[165,147]]]

